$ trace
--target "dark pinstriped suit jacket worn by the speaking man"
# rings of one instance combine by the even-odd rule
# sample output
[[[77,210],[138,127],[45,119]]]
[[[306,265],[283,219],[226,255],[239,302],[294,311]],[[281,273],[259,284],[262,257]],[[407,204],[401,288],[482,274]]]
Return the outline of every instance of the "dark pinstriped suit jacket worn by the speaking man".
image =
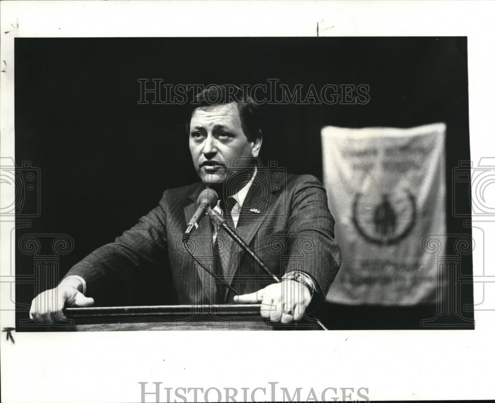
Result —
[[[221,295],[220,302],[231,302],[234,293],[215,284],[182,245],[182,234],[204,188],[199,182],[166,190],[159,205],[136,226],[91,253],[66,276],[83,277],[86,294],[93,296],[97,305],[213,303],[215,290]],[[210,218],[203,218],[191,240],[195,256],[213,271],[212,228]],[[326,294],[340,267],[334,219],[325,189],[313,176],[258,170],[237,231],[274,274],[306,272],[321,295]],[[218,236],[221,240],[228,235],[220,229]],[[229,267],[227,282],[240,294],[273,283],[237,245],[232,246]],[[139,295],[139,290],[157,298],[130,300],[129,296]]]

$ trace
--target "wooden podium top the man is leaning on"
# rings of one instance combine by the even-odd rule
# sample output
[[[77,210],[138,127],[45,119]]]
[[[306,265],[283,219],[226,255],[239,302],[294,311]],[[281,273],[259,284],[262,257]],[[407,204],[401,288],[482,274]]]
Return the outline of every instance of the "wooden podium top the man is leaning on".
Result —
[[[134,330],[319,330],[316,322],[272,323],[260,315],[260,304],[158,305],[66,308],[68,321],[58,331]]]

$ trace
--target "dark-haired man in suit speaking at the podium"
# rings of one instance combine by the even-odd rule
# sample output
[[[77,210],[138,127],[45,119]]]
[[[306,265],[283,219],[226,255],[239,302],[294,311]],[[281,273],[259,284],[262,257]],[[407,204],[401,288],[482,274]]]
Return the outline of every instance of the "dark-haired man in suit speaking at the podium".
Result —
[[[325,189],[313,176],[259,164],[263,136],[257,105],[239,91],[208,87],[197,96],[187,131],[201,182],[166,190],[136,226],[72,267],[57,288],[33,299],[31,318],[53,323],[64,319],[64,306],[117,305],[119,295],[140,284],[152,288],[164,274],[162,302],[261,302],[261,315],[282,323],[300,320],[310,304],[325,298],[340,267]],[[282,282],[274,282],[208,217],[189,244],[215,276],[191,258],[182,235],[206,187],[218,193],[215,212]]]

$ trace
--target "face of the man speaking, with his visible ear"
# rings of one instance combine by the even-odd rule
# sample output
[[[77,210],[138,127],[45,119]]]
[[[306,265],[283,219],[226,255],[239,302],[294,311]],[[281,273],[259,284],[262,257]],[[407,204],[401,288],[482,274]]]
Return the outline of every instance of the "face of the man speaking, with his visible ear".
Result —
[[[189,149],[208,185],[223,183],[237,157],[257,157],[260,147],[261,138],[247,140],[236,103],[201,107],[191,116]]]

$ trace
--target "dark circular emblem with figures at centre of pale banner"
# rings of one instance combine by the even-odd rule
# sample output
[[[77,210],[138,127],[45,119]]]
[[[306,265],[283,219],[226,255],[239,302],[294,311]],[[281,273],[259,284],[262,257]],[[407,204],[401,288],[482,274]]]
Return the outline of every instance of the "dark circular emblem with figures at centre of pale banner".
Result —
[[[364,195],[356,193],[352,222],[368,242],[393,245],[416,223],[416,202],[409,191]]]

